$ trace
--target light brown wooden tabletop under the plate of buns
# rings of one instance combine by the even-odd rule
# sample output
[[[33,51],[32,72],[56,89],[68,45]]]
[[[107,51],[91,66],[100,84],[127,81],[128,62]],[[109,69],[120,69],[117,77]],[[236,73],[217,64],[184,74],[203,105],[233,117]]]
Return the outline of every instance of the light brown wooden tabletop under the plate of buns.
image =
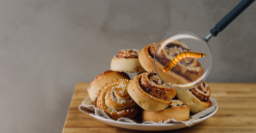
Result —
[[[208,83],[219,109],[209,119],[171,131],[136,131],[100,122],[78,110],[90,83],[76,84],[62,133],[256,133],[256,83]]]

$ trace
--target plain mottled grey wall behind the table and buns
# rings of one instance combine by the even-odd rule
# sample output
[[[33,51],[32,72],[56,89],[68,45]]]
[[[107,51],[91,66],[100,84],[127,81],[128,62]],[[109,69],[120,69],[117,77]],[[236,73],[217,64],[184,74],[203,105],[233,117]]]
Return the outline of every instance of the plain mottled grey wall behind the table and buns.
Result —
[[[120,49],[205,36],[240,0],[0,0],[0,132],[60,133],[76,82]],[[256,3],[209,45],[208,82],[256,82]]]

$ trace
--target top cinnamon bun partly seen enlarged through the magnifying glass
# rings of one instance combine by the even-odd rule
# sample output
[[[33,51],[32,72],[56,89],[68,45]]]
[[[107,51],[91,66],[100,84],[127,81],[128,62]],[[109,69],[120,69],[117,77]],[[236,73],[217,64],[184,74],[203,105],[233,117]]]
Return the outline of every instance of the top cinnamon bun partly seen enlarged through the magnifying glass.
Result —
[[[197,61],[196,58],[184,58],[170,71],[163,74],[162,68],[168,64],[176,55],[191,51],[185,44],[177,40],[166,39],[161,44],[149,44],[146,45],[139,53],[139,61],[141,66],[146,71],[156,71],[154,66],[154,55],[157,49],[156,55],[156,69],[161,78],[168,84],[172,84],[173,87],[182,89],[182,86],[175,85],[190,85],[189,88],[195,87],[192,84],[193,81],[200,78],[203,75],[204,68]],[[165,46],[162,46],[164,44]],[[161,48],[162,47],[162,48]],[[200,82],[200,81],[199,81]]]

